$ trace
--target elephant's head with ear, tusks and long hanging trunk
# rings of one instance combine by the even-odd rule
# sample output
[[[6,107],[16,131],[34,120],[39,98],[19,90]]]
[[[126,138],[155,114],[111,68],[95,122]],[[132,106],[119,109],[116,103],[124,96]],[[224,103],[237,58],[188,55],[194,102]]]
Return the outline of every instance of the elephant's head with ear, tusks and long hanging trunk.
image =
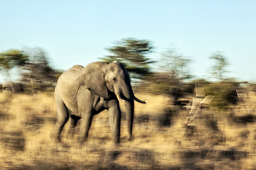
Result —
[[[90,64],[89,74],[93,74],[94,76],[86,78],[86,81],[89,82],[88,89],[105,98],[109,97],[110,94],[115,94],[118,101],[124,103],[128,140],[132,140],[134,100],[139,103],[146,102],[134,96],[127,69],[119,62],[111,62],[109,64],[96,62]]]

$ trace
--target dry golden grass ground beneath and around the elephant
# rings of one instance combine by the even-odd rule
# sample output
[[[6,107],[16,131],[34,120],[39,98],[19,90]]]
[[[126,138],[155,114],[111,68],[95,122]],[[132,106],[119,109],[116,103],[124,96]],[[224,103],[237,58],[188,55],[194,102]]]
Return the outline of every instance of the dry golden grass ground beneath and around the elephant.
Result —
[[[203,108],[186,127],[188,112],[166,96],[137,94],[132,142],[122,116],[120,147],[110,147],[107,111],[95,115],[85,146],[63,130],[55,145],[53,94],[0,94],[0,169],[256,169],[256,96],[227,111]]]

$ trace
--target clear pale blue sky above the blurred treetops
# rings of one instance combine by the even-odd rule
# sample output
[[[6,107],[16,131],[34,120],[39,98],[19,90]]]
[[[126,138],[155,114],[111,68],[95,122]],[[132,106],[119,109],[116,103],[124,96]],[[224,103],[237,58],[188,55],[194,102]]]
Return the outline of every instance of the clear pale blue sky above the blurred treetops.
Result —
[[[0,0],[0,52],[46,50],[53,67],[68,69],[107,55],[122,38],[152,42],[152,60],[169,47],[193,62],[191,74],[208,78],[215,51],[228,58],[228,77],[256,80],[256,1]]]

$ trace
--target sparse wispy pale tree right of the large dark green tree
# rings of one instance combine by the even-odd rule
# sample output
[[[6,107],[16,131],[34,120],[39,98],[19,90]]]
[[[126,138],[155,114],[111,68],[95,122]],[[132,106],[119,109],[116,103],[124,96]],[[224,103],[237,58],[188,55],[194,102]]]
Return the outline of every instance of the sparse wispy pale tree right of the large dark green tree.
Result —
[[[178,79],[191,79],[191,74],[188,73],[188,64],[191,60],[178,54],[174,49],[169,48],[162,54],[160,60],[160,69],[164,72],[175,74]]]

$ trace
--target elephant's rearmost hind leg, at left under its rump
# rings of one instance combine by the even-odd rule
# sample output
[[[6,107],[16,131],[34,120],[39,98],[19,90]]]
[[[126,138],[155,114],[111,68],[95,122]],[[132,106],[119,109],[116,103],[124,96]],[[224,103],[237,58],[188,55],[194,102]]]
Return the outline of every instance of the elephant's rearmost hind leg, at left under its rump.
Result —
[[[55,102],[57,108],[57,121],[51,136],[57,142],[60,142],[60,133],[63,130],[65,123],[67,123],[69,115],[68,108],[65,106],[65,103],[63,103],[62,99],[58,95],[55,95]]]

